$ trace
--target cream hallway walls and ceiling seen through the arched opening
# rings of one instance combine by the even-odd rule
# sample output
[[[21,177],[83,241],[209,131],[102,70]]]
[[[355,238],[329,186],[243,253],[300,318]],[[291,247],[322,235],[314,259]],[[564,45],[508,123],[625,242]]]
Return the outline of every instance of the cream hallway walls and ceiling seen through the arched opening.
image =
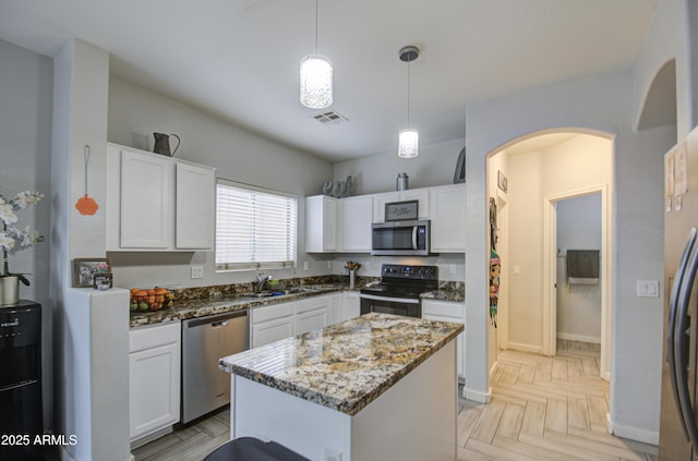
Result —
[[[506,160],[497,156],[505,156]],[[601,254],[605,258],[604,278],[600,283],[600,371],[605,379],[611,373],[612,341],[612,161],[611,136],[579,129],[534,132],[507,143],[488,157],[488,192],[504,204],[508,221],[508,229],[500,229],[498,234],[505,252],[501,255],[503,286],[498,328],[489,330],[502,349],[555,354],[555,300],[551,296],[556,294],[556,251],[551,246],[554,239],[551,242],[550,238],[551,227],[554,229],[554,203],[593,192],[603,195],[605,243]],[[500,170],[507,177],[506,193],[497,190]],[[517,246],[524,250],[517,251]]]

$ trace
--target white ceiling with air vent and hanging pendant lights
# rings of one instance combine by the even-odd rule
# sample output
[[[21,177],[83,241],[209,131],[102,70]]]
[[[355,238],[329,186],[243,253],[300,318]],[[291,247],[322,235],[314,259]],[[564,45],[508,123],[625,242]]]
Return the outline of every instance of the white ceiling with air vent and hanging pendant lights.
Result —
[[[318,51],[348,119],[298,97],[315,51],[314,0],[2,0],[0,39],[53,56],[69,37],[112,54],[122,80],[330,161],[462,138],[466,107],[633,65],[657,0],[318,0]]]

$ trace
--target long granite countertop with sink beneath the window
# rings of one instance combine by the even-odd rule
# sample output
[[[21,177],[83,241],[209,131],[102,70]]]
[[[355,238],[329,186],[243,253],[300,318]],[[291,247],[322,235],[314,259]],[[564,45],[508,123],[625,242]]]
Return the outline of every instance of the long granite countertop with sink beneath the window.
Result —
[[[146,325],[165,324],[174,320],[186,320],[189,318],[204,317],[207,315],[222,314],[226,312],[242,311],[258,306],[290,302],[303,298],[317,296],[338,291],[348,291],[349,287],[342,284],[316,284],[297,288],[289,294],[256,298],[253,294],[239,294],[232,296],[220,296],[206,300],[191,300],[176,302],[173,307],[161,311],[132,313],[129,319],[130,328]],[[354,289],[352,291],[358,291]]]

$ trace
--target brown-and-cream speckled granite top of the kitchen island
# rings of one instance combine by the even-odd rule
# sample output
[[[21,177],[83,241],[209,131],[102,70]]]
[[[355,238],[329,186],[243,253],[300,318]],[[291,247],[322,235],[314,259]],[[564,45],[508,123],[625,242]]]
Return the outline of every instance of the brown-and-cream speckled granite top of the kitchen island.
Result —
[[[220,359],[220,369],[356,415],[464,330],[371,313]]]

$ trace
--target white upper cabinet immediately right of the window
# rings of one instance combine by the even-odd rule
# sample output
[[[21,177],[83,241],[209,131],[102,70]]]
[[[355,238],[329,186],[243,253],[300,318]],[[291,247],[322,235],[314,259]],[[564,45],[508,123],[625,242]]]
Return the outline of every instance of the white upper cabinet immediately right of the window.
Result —
[[[337,246],[338,199],[327,195],[305,197],[305,251],[333,253]]]

